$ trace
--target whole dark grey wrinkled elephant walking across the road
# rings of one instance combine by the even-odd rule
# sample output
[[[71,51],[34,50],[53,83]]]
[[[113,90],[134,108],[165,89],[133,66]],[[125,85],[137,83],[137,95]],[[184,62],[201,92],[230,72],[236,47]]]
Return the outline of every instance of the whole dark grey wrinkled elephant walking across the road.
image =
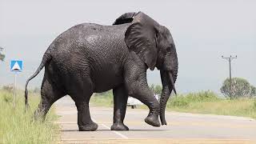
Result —
[[[160,126],[160,114],[162,125],[166,125],[166,102],[171,91],[175,92],[178,58],[170,31],[142,12],[122,14],[113,26],[83,23],[60,34],[26,82],[26,106],[28,82],[44,66],[42,100],[35,116],[44,118],[50,106],[68,94],[77,106],[79,130],[97,130],[90,118],[90,97],[113,89],[111,130],[129,130],[123,124],[128,95],[149,107],[146,123]],[[146,81],[146,70],[154,67],[161,73],[160,103]]]

